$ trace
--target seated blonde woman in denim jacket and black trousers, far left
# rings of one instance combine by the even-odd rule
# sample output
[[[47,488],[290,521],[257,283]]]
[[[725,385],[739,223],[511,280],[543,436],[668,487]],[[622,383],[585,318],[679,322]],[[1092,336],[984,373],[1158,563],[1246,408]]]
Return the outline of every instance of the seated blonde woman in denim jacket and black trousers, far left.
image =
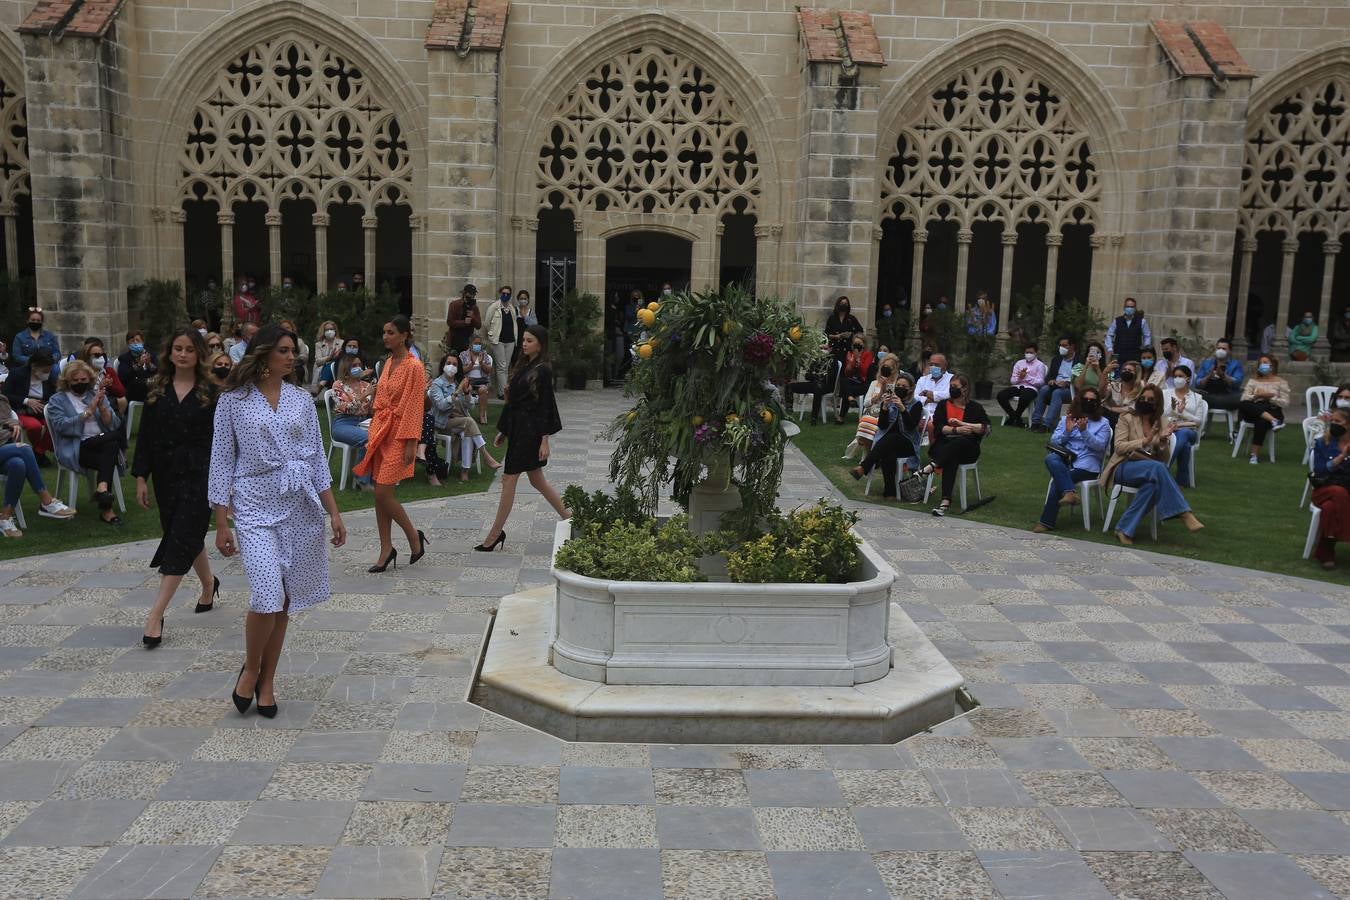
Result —
[[[88,363],[76,360],[66,366],[58,386],[47,405],[57,459],[72,471],[94,474],[93,499],[99,505],[99,518],[108,525],[122,525],[122,517],[112,507],[111,490],[122,452],[122,420],[108,402],[105,389],[94,387],[94,371]]]

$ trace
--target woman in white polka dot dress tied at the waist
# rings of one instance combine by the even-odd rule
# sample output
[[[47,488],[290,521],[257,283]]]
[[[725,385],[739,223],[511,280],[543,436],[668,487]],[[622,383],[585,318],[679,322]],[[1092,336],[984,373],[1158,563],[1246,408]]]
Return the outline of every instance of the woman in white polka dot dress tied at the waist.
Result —
[[[273,676],[289,614],[329,596],[325,511],[333,546],[347,540],[315,402],[292,383],[294,366],[294,335],[269,325],[254,336],[216,403],[207,487],[216,546],[243,556],[251,588],[235,706],[244,712],[256,696],[258,711],[269,716],[277,714]]]

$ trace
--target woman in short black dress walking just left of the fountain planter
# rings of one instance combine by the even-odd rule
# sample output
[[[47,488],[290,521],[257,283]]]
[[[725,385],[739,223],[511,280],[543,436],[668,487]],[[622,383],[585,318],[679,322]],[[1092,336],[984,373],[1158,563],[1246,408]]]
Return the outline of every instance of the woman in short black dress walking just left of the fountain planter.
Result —
[[[475,546],[475,551],[494,551],[506,542],[506,519],[516,502],[516,482],[521,474],[544,495],[559,518],[571,515],[563,506],[563,498],[543,472],[548,464],[548,436],[560,430],[563,420],[558,414],[554,371],[548,366],[548,332],[539,325],[531,325],[521,335],[520,359],[512,366],[510,381],[506,385],[506,406],[497,420],[497,437],[493,439],[495,447],[506,441],[497,519],[487,532],[487,540]]]

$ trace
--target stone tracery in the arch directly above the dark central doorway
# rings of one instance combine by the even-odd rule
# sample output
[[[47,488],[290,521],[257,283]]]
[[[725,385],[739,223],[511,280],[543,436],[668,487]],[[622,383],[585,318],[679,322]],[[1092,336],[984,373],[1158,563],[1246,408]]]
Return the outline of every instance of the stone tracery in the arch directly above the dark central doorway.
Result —
[[[760,165],[707,70],[645,46],[595,66],[545,127],[540,208],[755,213]]]

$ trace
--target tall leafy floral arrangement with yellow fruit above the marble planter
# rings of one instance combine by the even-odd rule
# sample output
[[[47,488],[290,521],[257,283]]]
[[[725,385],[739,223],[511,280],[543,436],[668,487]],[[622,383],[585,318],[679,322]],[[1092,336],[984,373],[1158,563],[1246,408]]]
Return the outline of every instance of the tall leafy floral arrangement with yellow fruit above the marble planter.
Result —
[[[738,286],[684,293],[637,310],[643,337],[628,376],[633,407],[610,425],[610,479],[655,514],[662,488],[730,478],[749,521],[774,509],[783,476],[786,382],[814,363],[824,335],[794,304]]]

